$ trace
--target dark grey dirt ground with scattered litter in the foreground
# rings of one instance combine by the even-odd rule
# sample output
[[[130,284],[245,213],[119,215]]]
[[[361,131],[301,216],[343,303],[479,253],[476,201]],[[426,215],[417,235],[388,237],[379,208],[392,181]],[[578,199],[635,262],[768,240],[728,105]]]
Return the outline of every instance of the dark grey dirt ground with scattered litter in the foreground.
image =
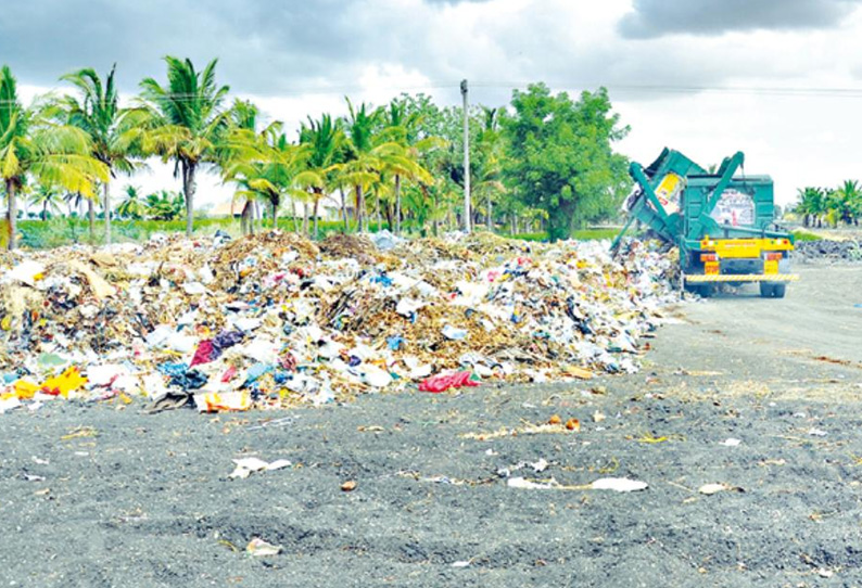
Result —
[[[801,273],[684,305],[631,376],[0,416],[0,586],[860,586],[862,270]],[[581,430],[530,434],[552,414]],[[292,465],[230,480],[249,456]]]

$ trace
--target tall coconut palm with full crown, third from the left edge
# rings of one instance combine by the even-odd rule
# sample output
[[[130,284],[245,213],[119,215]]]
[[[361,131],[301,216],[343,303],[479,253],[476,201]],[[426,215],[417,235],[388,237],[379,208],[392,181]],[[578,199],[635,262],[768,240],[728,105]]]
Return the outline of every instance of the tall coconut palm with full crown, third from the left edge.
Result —
[[[167,85],[153,78],[141,81],[145,103],[136,113],[141,124],[144,151],[174,162],[175,176],[182,178],[186,197],[186,234],[194,229],[194,190],[198,169],[218,161],[218,144],[228,127],[228,113],[221,103],[228,86],[217,86],[211,61],[197,72],[191,60],[166,56]]]

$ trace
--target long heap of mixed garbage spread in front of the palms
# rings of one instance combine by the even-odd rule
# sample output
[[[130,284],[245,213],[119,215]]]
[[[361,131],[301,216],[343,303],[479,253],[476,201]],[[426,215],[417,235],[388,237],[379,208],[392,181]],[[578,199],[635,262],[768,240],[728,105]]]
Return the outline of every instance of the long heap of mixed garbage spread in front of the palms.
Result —
[[[0,258],[0,412],[56,398],[284,408],[637,370],[677,264],[631,241],[269,232]]]

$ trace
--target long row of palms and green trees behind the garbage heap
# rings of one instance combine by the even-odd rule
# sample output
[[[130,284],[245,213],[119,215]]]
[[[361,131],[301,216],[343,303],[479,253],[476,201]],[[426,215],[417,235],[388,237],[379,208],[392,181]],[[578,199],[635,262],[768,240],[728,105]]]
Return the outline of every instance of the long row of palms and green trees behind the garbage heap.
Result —
[[[556,240],[611,218],[630,188],[626,161],[613,151],[628,129],[604,89],[569,97],[536,84],[505,107],[472,106],[467,218],[462,108],[424,94],[382,106],[345,99],[346,115],[307,117],[291,132],[232,99],[217,81],[216,60],[199,69],[167,56],[164,66],[123,103],[122,72],[112,67],[104,76],[91,68],[63,75],[65,92],[26,106],[2,68],[2,246],[213,227],[248,234],[276,225],[316,238],[378,228],[439,234],[469,225]],[[143,194],[135,174],[154,158],[173,166],[177,183]],[[237,218],[206,218],[203,170],[234,188]],[[124,187],[116,202],[114,184]]]

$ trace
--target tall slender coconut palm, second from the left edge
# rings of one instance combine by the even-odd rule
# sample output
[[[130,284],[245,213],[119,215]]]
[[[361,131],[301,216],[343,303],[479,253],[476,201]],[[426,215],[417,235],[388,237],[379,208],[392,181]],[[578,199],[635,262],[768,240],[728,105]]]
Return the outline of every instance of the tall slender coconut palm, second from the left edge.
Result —
[[[119,108],[119,95],[114,84],[116,64],[111,67],[104,84],[91,67],[78,69],[63,76],[78,89],[79,97],[68,95],[62,101],[66,122],[84,130],[92,143],[92,156],[109,169],[109,178],[102,182],[102,208],[104,209],[105,243],[111,243],[111,178],[117,171],[130,174],[135,165],[129,157],[129,145],[123,137],[124,115]],[[94,210],[89,203],[90,239],[93,239]]]

